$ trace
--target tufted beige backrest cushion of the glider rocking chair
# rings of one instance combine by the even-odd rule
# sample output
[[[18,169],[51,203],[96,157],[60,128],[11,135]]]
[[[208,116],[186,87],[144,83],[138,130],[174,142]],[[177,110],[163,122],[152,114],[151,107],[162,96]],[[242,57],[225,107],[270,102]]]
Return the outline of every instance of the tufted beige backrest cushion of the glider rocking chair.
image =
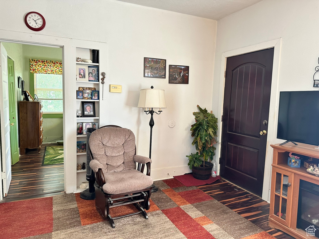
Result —
[[[104,174],[136,169],[135,136],[126,128],[100,128],[90,136],[93,158],[102,164]]]

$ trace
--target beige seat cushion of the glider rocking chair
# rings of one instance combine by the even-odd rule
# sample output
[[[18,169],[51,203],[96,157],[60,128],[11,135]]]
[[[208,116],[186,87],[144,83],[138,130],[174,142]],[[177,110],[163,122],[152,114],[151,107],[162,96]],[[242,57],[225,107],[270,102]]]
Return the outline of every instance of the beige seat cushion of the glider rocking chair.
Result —
[[[153,184],[153,179],[150,176],[135,169],[104,173],[104,177],[106,183],[102,188],[108,194],[139,191]]]

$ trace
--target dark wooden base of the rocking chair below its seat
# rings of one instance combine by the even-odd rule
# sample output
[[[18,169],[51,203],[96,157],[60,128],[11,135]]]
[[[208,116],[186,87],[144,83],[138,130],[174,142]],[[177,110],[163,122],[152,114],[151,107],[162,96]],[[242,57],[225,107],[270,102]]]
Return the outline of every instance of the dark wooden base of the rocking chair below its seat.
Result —
[[[135,214],[142,214],[145,219],[148,219],[147,213],[145,209],[148,210],[150,208],[150,196],[151,196],[151,187],[145,188],[142,191],[138,192],[128,192],[125,196],[123,194],[107,194],[102,191],[101,187],[98,185],[94,185],[95,187],[95,207],[99,214],[102,216],[104,220],[108,219],[112,228],[115,228],[114,219],[127,217]],[[109,209],[117,206],[124,206],[133,204],[138,212],[130,213],[118,217],[111,217],[109,213]]]

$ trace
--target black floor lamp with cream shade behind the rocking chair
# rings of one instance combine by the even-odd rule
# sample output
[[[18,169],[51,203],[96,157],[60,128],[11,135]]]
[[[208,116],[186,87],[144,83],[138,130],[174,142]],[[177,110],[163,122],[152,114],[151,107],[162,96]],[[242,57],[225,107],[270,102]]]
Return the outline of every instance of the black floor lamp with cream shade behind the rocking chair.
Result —
[[[138,101],[137,108],[145,108],[145,113],[151,115],[150,120],[150,127],[151,127],[151,135],[150,135],[150,156],[152,153],[152,129],[154,126],[154,120],[153,120],[153,114],[160,114],[162,108],[166,108],[166,102],[165,102],[165,94],[164,90],[154,89],[153,86],[151,86],[151,89],[142,89],[140,90],[140,98]],[[147,110],[148,108],[148,110]],[[156,112],[153,110],[153,108],[159,108],[159,111]],[[157,186],[155,184],[152,185],[152,192],[156,192],[158,190]]]

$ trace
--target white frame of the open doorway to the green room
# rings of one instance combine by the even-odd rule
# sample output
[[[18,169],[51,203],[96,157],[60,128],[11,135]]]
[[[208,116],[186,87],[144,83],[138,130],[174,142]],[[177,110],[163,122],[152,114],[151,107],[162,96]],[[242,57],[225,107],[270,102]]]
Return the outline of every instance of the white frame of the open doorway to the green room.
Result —
[[[64,136],[64,191],[66,193],[73,192],[73,187],[76,180],[76,155],[74,148],[76,148],[76,135],[72,127],[65,127],[68,125],[75,125],[76,118],[74,117],[73,104],[66,104],[66,102],[74,102],[73,94],[67,94],[67,91],[74,89],[75,81],[66,79],[74,78],[74,65],[72,52],[72,39],[62,38],[48,35],[40,35],[34,33],[14,32],[8,30],[0,30],[0,42],[11,42],[19,44],[28,44],[46,47],[62,48],[62,62],[63,62],[63,136]],[[1,188],[2,190],[2,188]]]

